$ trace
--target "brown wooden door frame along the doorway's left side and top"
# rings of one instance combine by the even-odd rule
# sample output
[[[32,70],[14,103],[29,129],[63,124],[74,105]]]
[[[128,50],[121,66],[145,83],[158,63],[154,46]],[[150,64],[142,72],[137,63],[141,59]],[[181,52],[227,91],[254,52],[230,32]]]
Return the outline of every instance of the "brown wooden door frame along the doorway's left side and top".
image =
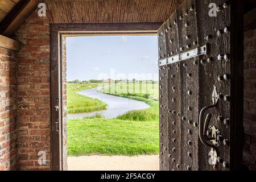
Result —
[[[162,24],[163,22],[50,24],[51,170],[63,170],[63,40],[68,36],[157,35]],[[59,106],[58,111],[56,106]],[[56,123],[57,121],[59,122]]]

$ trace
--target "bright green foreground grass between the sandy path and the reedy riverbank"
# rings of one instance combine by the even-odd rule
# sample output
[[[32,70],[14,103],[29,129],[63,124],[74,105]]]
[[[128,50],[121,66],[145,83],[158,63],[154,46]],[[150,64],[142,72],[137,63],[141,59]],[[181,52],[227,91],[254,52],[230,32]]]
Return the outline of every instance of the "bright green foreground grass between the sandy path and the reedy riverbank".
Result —
[[[68,155],[146,155],[159,152],[158,121],[68,121]]]

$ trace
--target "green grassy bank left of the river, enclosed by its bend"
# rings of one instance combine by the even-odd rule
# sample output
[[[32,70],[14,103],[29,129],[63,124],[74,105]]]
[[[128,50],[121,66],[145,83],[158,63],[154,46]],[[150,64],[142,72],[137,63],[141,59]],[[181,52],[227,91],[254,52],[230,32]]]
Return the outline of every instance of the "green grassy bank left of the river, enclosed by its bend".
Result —
[[[80,90],[96,88],[98,84],[67,84],[68,113],[85,113],[106,109],[107,104],[97,99],[82,96]]]

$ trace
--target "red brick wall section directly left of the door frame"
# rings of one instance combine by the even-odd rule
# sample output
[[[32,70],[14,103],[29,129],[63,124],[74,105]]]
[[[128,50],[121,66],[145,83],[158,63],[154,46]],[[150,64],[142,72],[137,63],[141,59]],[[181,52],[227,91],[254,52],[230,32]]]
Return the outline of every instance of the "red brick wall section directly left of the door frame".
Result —
[[[15,34],[17,54],[18,169],[50,169],[50,60],[49,23],[37,11]],[[38,152],[47,163],[39,165]]]

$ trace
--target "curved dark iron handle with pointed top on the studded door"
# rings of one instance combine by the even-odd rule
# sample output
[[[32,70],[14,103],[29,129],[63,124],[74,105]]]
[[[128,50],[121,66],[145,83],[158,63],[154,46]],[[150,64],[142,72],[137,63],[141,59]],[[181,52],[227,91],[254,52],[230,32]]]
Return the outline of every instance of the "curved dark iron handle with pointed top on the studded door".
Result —
[[[204,116],[205,111],[207,111],[210,108],[216,107],[216,105],[218,103],[218,94],[216,91],[216,85],[214,85],[214,89],[213,89],[213,93],[212,93],[212,102],[213,102],[212,105],[205,106],[200,111],[200,114],[199,114],[199,138],[205,146],[212,147],[212,148],[214,148],[214,150],[216,150],[216,146],[207,143],[207,141],[215,139],[213,137],[212,138],[208,137],[206,134],[208,126],[209,126],[210,118],[212,117],[212,115],[207,114],[207,117],[205,118],[205,122],[203,123],[203,116]]]

